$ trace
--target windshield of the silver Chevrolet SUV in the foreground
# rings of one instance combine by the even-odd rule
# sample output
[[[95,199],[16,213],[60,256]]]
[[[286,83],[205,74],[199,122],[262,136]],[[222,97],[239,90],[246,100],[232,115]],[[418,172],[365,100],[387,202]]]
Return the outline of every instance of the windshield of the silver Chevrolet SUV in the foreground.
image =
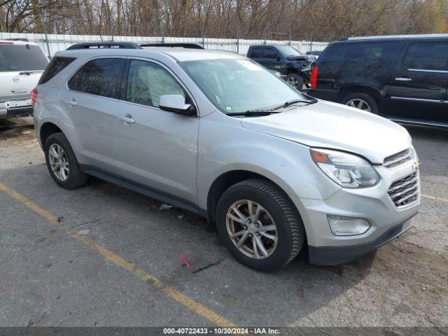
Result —
[[[211,102],[227,114],[270,109],[294,99],[306,99],[249,59],[209,59],[180,64]]]

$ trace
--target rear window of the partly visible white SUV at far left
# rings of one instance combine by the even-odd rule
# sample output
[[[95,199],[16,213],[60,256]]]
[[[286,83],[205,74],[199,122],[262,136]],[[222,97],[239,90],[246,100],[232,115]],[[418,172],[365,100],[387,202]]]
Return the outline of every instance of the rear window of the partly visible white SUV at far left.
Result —
[[[0,45],[0,72],[44,70],[48,58],[37,45]]]

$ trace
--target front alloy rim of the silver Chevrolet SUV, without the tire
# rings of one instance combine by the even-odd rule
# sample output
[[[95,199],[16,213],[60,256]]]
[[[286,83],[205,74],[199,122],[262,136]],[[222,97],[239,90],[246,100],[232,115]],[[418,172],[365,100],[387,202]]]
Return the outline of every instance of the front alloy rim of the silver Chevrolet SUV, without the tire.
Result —
[[[232,243],[249,258],[269,258],[276,249],[279,238],[274,220],[257,202],[238,200],[232,204],[226,227]]]

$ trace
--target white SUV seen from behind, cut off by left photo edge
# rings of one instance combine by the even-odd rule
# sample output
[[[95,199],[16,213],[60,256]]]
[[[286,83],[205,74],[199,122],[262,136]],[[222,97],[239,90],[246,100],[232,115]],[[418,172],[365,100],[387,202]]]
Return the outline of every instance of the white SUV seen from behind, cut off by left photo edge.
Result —
[[[0,40],[0,119],[33,114],[29,95],[47,64],[36,43]]]

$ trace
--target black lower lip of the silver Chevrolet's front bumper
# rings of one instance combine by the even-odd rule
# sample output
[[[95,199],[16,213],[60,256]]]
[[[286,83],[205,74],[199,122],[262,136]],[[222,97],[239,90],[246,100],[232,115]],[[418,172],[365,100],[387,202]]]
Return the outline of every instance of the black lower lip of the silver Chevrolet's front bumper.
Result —
[[[413,214],[414,217],[417,213]],[[412,226],[412,218],[396,225],[383,235],[365,244],[351,246],[308,246],[309,262],[314,265],[339,265],[360,258],[361,256],[376,250],[387,244]]]

